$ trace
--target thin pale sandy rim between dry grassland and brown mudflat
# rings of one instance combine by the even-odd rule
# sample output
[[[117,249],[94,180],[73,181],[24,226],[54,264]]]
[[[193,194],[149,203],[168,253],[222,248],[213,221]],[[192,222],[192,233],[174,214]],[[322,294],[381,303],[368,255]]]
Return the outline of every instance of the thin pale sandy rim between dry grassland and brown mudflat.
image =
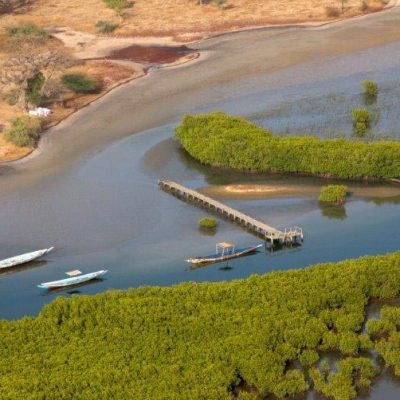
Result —
[[[218,39],[220,37],[225,37],[225,36],[231,36],[235,35],[238,33],[246,33],[246,32],[254,32],[254,31],[269,31],[269,30],[275,30],[275,29],[296,29],[296,28],[301,28],[301,29],[310,29],[310,30],[320,30],[320,29],[327,29],[331,26],[340,26],[342,24],[348,24],[354,21],[359,21],[359,20],[364,20],[367,18],[371,18],[377,15],[381,15],[387,12],[390,12],[391,10],[400,7],[399,0],[391,0],[389,3],[379,11],[367,13],[367,14],[361,14],[361,15],[356,15],[352,16],[349,18],[340,18],[340,19],[335,19],[332,21],[317,21],[317,22],[302,22],[298,24],[268,24],[268,25],[262,25],[262,26],[248,26],[248,27],[243,27],[239,29],[234,29],[234,30],[228,30],[228,31],[222,31],[222,32],[214,32],[211,35],[206,35],[201,39],[192,41],[192,42],[173,42],[174,44],[180,45],[180,44],[204,44],[205,42],[209,40],[214,40]],[[141,39],[145,39],[146,37],[138,38],[137,41],[134,43],[137,43],[141,45]],[[137,39],[137,38],[133,38]],[[163,40],[164,39],[164,40]],[[147,43],[148,44],[148,43]],[[158,38],[158,42],[156,42],[157,45],[165,45],[165,38]],[[43,131],[43,134],[40,137],[39,143],[37,147],[33,148],[31,152],[28,154],[25,154],[21,158],[12,160],[12,161],[4,161],[0,162],[0,167],[5,166],[5,167],[12,167],[15,165],[20,165],[25,162],[29,162],[31,159],[39,156],[42,154],[42,142],[45,136],[51,135],[54,131],[54,128],[56,128],[58,125],[63,123],[64,121],[70,119],[73,115],[79,114],[82,110],[86,109],[93,103],[96,103],[103,98],[106,98],[111,92],[113,92],[116,88],[125,86],[127,83],[131,83],[133,81],[140,80],[141,78],[146,78],[148,75],[151,73],[151,70],[156,69],[156,70],[163,70],[163,69],[171,69],[171,68],[181,68],[184,67],[188,63],[194,63],[197,62],[201,59],[204,59],[204,54],[199,51],[199,52],[194,52],[193,53],[194,57],[193,58],[188,58],[187,56],[183,56],[181,59],[177,60],[176,62],[173,62],[171,64],[161,64],[161,65],[156,65],[156,66],[150,66],[148,68],[145,67],[144,64],[139,64],[140,67],[143,69],[144,73],[139,74],[137,76],[133,76],[127,79],[124,79],[121,82],[118,82],[114,84],[113,86],[107,88],[107,90],[102,93],[99,97],[93,99],[92,101],[88,102],[84,106],[75,109],[72,111],[70,114],[66,115],[65,117],[61,118],[60,120],[56,121],[52,126],[49,128],[45,129]]]

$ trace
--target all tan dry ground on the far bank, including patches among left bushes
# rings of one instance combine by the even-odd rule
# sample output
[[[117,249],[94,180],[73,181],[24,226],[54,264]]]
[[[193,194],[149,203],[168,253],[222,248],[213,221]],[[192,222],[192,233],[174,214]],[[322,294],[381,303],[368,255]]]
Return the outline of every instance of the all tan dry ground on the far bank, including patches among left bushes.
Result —
[[[374,12],[383,8],[383,0],[347,0],[344,13],[339,17],[350,17],[363,12]],[[364,4],[363,4],[364,3]],[[122,42],[116,35],[140,37],[173,37],[176,40],[190,41],[201,39],[215,32],[233,29],[297,22],[316,22],[329,20],[326,10],[340,10],[337,0],[227,0],[225,8],[215,4],[198,5],[197,0],[135,0],[133,7],[124,12],[123,18],[107,9],[103,0],[36,0],[24,12],[0,17],[0,62],[10,57],[12,46],[7,44],[5,28],[22,23],[35,23],[44,28],[68,26],[77,32],[67,30],[71,35],[70,52],[78,58],[89,57],[90,51],[105,51],[109,46],[120,48]],[[329,14],[329,13],[328,13]],[[99,43],[98,37],[80,32],[96,33],[95,24],[99,20],[119,24],[114,42],[110,36]],[[75,37],[72,37],[75,35]],[[86,35],[86,36],[85,36]],[[65,38],[64,38],[65,39]],[[149,38],[150,40],[151,38]],[[76,43],[75,43],[76,42]],[[81,43],[82,42],[82,43]],[[161,41],[160,41],[161,42]],[[62,47],[58,39],[47,43],[50,47]],[[119,47],[118,47],[119,46]],[[123,46],[122,46],[123,47]],[[80,54],[79,53],[82,53]],[[11,53],[10,53],[11,52]],[[61,104],[52,104],[52,115],[45,120],[45,127],[55,125],[77,109],[101,97],[112,87],[143,75],[143,69],[110,61],[86,61],[71,68],[68,72],[83,72],[102,83],[102,90],[96,94],[76,95],[68,93]],[[21,111],[0,100],[0,132],[6,128]],[[0,162],[21,158],[32,149],[17,148],[7,143],[0,133]]]

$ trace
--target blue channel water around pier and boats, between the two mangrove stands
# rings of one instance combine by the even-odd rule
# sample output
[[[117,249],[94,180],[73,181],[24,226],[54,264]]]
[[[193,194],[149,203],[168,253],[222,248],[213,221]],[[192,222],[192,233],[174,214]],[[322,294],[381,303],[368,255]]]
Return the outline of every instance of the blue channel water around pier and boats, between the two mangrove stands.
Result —
[[[197,220],[206,215],[203,210],[158,189],[158,178],[192,188],[248,181],[244,175],[199,168],[170,139],[172,130],[173,126],[164,126],[131,136],[61,180],[47,182],[26,195],[22,191],[3,198],[1,256],[44,246],[55,246],[55,250],[46,257],[45,265],[0,275],[0,293],[7,299],[0,305],[2,317],[35,314],[54,297],[68,295],[44,295],[36,284],[61,278],[65,271],[75,268],[88,272],[109,269],[104,281],[73,291],[95,293],[140,285],[236,279],[398,249],[400,190],[390,197],[350,198],[341,209],[321,208],[314,193],[224,199],[278,228],[302,227],[304,245],[233,260],[229,270],[221,270],[220,264],[188,269],[184,261],[188,256],[212,253],[218,241],[243,246],[260,239],[224,220],[219,221],[215,235],[205,235],[197,228]],[[253,183],[274,185],[293,181],[309,186],[326,184],[312,178],[253,179]],[[380,186],[375,190],[378,195]]]

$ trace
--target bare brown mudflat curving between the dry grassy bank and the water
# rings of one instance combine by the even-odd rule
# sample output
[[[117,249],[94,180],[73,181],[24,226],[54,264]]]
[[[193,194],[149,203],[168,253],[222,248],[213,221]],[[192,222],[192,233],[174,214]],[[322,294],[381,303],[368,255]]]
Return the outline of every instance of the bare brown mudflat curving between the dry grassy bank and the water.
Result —
[[[320,29],[260,29],[199,42],[191,46],[201,52],[196,62],[151,70],[120,86],[49,130],[32,155],[1,166],[1,192],[59,174],[115,140],[209,106],[207,91],[214,88],[221,98],[234,97],[228,89],[235,82],[400,41],[399,22],[394,8]]]

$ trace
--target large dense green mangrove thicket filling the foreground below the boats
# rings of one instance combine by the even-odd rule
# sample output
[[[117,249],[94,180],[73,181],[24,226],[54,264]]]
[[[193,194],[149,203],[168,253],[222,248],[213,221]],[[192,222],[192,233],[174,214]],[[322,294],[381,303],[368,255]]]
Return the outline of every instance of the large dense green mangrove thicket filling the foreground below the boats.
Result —
[[[232,400],[304,393],[353,399],[378,349],[400,376],[400,253],[220,283],[58,297],[37,317],[0,321],[0,397]],[[331,369],[324,352],[342,354]],[[300,366],[299,361],[302,366]],[[107,371],[105,374],[104,371]],[[17,394],[17,395],[16,395]]]

